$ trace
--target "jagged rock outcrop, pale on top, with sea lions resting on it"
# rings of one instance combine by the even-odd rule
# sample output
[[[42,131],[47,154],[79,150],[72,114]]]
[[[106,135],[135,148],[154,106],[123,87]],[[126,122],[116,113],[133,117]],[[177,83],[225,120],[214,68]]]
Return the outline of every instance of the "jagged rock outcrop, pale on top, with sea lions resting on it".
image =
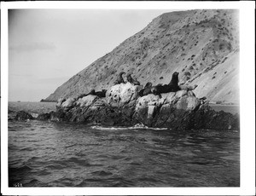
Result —
[[[86,95],[60,99],[55,112],[41,113],[37,118],[17,112],[15,120],[37,119],[111,126],[133,126],[172,130],[239,130],[239,115],[216,112],[198,99],[192,90],[179,90],[159,95],[140,97],[142,86],[117,84],[106,92],[106,97]]]

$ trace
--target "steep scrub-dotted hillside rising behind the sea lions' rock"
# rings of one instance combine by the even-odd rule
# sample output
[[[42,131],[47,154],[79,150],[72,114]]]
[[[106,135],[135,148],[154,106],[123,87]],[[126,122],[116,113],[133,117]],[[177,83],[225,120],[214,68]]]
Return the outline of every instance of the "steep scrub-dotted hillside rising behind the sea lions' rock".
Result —
[[[141,84],[198,84],[195,95],[209,101],[239,102],[239,26],[236,10],[189,10],[161,14],[55,89],[46,98],[76,97],[108,89],[119,72]]]

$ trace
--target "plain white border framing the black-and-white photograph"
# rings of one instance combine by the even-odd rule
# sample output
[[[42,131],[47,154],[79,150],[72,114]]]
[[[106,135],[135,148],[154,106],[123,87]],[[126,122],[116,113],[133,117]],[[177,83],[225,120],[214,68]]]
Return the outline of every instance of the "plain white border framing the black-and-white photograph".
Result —
[[[8,187],[8,9],[239,9],[241,187]],[[1,192],[3,195],[253,195],[255,193],[255,5],[252,2],[1,3]]]

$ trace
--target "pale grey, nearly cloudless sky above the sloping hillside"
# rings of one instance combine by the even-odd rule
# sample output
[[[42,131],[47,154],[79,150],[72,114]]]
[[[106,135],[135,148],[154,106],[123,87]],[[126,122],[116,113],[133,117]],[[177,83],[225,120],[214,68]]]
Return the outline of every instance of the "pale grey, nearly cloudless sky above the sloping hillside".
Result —
[[[9,101],[40,101],[172,10],[9,10]]]

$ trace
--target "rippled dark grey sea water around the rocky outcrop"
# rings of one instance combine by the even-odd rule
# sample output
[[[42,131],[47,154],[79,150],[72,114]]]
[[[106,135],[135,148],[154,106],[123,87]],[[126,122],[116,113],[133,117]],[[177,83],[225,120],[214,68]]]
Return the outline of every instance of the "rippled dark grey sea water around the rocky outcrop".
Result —
[[[55,103],[9,102],[34,115]],[[9,187],[239,187],[240,133],[9,121]]]

